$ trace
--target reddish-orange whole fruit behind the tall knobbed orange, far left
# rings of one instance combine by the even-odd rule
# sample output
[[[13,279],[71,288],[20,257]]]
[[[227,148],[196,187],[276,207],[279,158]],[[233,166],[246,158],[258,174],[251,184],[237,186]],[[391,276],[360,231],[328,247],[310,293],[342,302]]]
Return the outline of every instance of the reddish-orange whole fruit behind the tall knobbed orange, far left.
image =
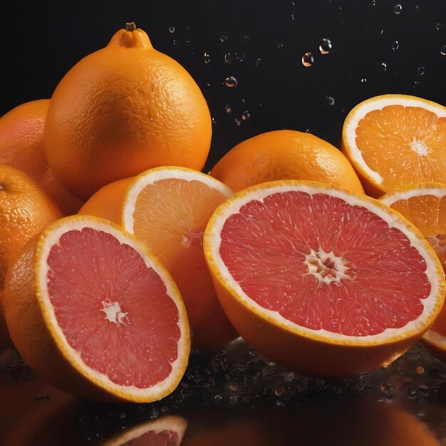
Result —
[[[31,100],[0,118],[0,163],[23,170],[58,204],[63,214],[76,214],[80,199],[51,172],[43,149],[43,127],[49,99]]]

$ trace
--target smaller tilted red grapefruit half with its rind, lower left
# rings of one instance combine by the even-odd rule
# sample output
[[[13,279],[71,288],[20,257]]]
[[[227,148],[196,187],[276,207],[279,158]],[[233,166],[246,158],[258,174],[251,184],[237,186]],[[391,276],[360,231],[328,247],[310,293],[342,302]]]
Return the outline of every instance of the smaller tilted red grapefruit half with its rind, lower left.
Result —
[[[150,402],[180,382],[190,335],[160,262],[104,219],[51,224],[9,271],[5,314],[24,360],[83,398]]]

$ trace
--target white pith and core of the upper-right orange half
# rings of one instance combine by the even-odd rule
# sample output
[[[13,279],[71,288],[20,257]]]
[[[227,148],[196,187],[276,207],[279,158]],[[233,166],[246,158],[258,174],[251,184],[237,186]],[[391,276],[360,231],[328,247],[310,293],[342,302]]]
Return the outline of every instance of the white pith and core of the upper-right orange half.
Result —
[[[446,118],[446,108],[443,108],[441,105],[437,105],[435,103],[430,103],[424,100],[418,100],[417,98],[403,98],[401,96],[383,96],[382,98],[376,98],[375,100],[370,100],[367,103],[361,103],[356,105],[356,108],[350,112],[350,114],[346,118],[345,128],[343,133],[346,138],[346,142],[348,147],[350,148],[350,154],[353,160],[358,162],[361,165],[361,168],[365,172],[365,174],[373,180],[373,182],[377,184],[381,184],[384,181],[384,178],[375,170],[370,169],[368,164],[365,162],[363,153],[359,150],[358,145],[356,145],[356,128],[358,128],[359,122],[373,110],[382,110],[384,107],[388,105],[402,105],[403,107],[418,107],[424,108],[432,113],[435,113],[438,118]],[[414,141],[415,144],[418,141]],[[422,142],[424,145],[424,142]],[[413,149],[417,148],[421,150],[422,147],[415,145]],[[415,150],[416,151],[416,150]],[[422,151],[422,150],[421,150]],[[426,155],[424,152],[419,153],[419,155]]]

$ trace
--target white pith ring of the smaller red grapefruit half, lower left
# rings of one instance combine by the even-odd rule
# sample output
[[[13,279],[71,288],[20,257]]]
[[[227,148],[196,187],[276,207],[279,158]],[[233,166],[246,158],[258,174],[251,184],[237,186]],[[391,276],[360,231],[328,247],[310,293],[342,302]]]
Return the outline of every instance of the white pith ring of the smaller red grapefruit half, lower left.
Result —
[[[94,221],[93,221],[94,219]],[[45,239],[43,245],[41,245],[40,258],[42,259],[39,264],[40,268],[38,268],[38,291],[40,295],[41,302],[41,310],[43,316],[46,320],[51,323],[53,330],[56,333],[55,341],[58,344],[61,353],[66,356],[70,363],[72,363],[83,375],[88,377],[91,381],[100,385],[101,388],[105,390],[111,390],[115,395],[119,395],[122,398],[128,398],[129,395],[133,397],[137,397],[140,400],[147,400],[152,397],[157,399],[157,395],[160,393],[167,394],[172,390],[172,387],[175,387],[175,383],[179,381],[182,375],[182,364],[187,363],[187,355],[185,352],[189,352],[189,348],[187,348],[187,343],[189,342],[189,336],[186,336],[188,333],[187,328],[187,315],[185,313],[184,304],[182,304],[180,294],[177,289],[175,289],[172,285],[172,279],[167,275],[167,271],[157,263],[156,259],[152,259],[145,251],[144,247],[140,246],[140,242],[137,242],[135,239],[125,236],[119,229],[113,227],[112,224],[103,219],[92,218],[92,217],[67,217],[64,219],[63,224],[58,224],[58,226],[54,227],[52,230],[46,230]],[[156,271],[156,273],[160,276],[162,281],[165,284],[167,294],[170,296],[172,301],[175,303],[178,311],[178,327],[180,328],[180,339],[178,341],[178,349],[177,349],[177,359],[171,363],[172,372],[170,375],[165,378],[165,380],[152,385],[149,388],[137,388],[134,385],[119,385],[114,383],[107,375],[90,368],[90,366],[86,365],[81,357],[81,354],[76,351],[74,348],[70,346],[68,341],[66,341],[66,337],[63,334],[61,327],[58,325],[58,321],[56,318],[56,314],[54,312],[54,307],[51,304],[51,299],[48,294],[48,271],[49,266],[46,259],[48,259],[48,255],[50,254],[51,248],[58,244],[58,240],[61,238],[63,234],[69,232],[71,230],[81,231],[84,228],[97,229],[99,231],[106,232],[111,234],[115,239],[118,239],[120,244],[127,244],[135,251],[140,254],[142,259],[145,261],[145,264],[148,268],[152,268]]]

